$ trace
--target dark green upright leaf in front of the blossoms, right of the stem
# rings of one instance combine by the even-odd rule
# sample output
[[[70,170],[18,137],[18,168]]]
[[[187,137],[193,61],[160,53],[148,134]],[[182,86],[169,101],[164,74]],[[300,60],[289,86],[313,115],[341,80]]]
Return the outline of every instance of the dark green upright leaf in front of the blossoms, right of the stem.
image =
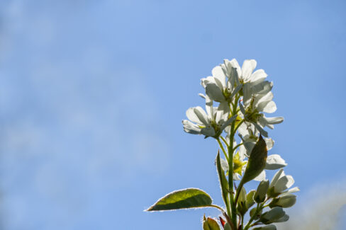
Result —
[[[253,147],[244,176],[242,177],[242,183],[245,184],[254,179],[264,170],[267,161],[267,144],[265,143],[262,135],[259,135],[259,139]]]

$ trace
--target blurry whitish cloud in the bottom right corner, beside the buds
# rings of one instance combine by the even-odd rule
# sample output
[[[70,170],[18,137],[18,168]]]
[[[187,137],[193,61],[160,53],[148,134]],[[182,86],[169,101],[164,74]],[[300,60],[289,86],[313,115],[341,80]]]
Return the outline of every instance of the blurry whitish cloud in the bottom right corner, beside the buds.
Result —
[[[303,195],[296,206],[287,209],[288,222],[277,224],[282,230],[342,230],[346,228],[346,181],[320,182]]]

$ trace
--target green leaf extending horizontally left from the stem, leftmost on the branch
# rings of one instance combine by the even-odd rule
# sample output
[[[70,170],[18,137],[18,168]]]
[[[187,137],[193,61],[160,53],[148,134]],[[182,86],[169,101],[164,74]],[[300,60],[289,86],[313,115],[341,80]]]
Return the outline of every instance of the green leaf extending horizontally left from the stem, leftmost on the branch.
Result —
[[[206,192],[197,188],[186,188],[165,195],[146,211],[208,207],[212,202],[213,200]]]

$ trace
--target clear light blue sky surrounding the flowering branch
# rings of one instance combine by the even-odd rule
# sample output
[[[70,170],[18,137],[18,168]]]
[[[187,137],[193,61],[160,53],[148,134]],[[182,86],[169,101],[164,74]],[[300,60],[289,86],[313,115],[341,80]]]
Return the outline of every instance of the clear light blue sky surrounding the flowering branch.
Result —
[[[225,58],[256,59],[274,81],[275,115],[285,121],[269,134],[301,188],[292,210],[314,191],[342,197],[345,7],[1,1],[2,229],[201,229],[203,214],[217,211],[143,209],[190,187],[222,204],[217,144],[181,122],[203,105],[200,79]]]

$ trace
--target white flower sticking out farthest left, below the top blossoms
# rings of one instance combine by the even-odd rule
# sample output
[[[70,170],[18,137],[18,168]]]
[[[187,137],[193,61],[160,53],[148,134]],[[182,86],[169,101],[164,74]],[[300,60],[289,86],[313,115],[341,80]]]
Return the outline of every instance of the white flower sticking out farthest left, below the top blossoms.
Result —
[[[208,96],[206,96],[206,112],[197,106],[186,110],[186,117],[189,120],[182,121],[184,131],[191,134],[203,134],[206,137],[218,137],[236,118],[236,116],[228,118],[228,113],[213,107],[213,101]]]

